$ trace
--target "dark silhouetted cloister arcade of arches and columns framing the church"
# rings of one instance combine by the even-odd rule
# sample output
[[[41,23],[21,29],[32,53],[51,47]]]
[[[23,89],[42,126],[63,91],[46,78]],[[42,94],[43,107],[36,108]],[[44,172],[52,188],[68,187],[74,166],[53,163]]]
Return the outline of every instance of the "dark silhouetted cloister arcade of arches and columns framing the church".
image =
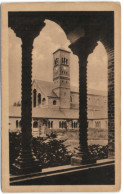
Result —
[[[18,173],[39,171],[31,151],[32,127],[32,49],[33,41],[45,26],[45,19],[57,23],[70,41],[69,48],[79,59],[79,144],[80,157],[88,163],[87,144],[87,58],[98,41],[108,55],[108,157],[114,158],[114,24],[113,12],[9,12],[8,26],[22,40],[22,161],[32,161],[29,169],[22,164]],[[39,103],[41,97],[39,96]],[[34,103],[35,106],[35,103]],[[27,155],[29,157],[27,157]],[[92,161],[91,161],[92,162]],[[19,163],[19,161],[18,161]],[[21,169],[21,170],[20,170]]]

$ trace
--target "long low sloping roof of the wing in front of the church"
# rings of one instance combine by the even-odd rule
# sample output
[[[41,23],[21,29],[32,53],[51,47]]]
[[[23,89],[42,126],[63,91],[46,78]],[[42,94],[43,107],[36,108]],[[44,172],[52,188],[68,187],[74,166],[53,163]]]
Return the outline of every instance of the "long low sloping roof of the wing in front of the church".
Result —
[[[10,117],[21,117],[21,107],[10,106]],[[32,117],[34,118],[55,118],[55,119],[78,119],[79,110],[75,109],[57,109],[57,108],[33,108]],[[107,118],[107,111],[96,111],[92,114],[88,111],[88,119],[104,119]]]

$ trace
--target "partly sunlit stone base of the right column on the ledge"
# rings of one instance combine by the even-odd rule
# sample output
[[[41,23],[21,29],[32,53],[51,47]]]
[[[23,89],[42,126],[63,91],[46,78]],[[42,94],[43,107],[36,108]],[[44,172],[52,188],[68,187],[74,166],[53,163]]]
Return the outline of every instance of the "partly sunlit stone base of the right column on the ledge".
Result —
[[[96,163],[95,159],[92,159],[90,157],[83,157],[83,154],[77,154],[75,156],[72,156],[71,158],[71,165],[72,166],[80,166],[83,164],[92,164]]]

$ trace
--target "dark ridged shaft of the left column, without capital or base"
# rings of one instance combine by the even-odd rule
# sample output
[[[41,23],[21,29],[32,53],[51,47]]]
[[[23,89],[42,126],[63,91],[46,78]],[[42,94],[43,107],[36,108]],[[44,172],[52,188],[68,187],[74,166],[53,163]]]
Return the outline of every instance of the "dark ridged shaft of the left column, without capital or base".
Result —
[[[32,134],[33,40],[22,39],[22,149],[30,149]]]

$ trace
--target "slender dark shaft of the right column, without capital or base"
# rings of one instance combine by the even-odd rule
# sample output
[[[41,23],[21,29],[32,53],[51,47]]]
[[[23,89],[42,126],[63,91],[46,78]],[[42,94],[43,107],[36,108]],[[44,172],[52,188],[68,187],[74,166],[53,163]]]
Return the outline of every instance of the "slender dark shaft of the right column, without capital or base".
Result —
[[[79,57],[79,143],[80,153],[85,157],[87,143],[87,56]]]

